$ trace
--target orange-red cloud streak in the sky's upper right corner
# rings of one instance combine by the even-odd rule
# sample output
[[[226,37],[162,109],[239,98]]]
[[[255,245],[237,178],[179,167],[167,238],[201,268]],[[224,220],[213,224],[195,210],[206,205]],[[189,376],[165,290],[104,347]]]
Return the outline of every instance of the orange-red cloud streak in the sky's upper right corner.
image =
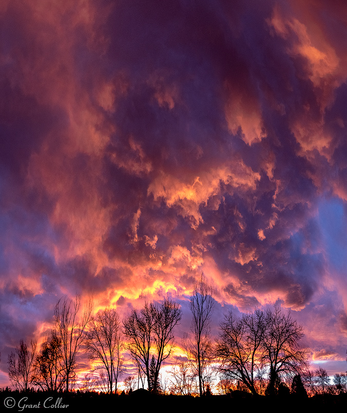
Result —
[[[288,40],[287,53],[294,59],[306,62],[305,71],[300,76],[310,79],[314,86],[315,98],[319,104],[316,108],[306,103],[302,110],[292,119],[292,132],[301,145],[301,154],[314,149],[330,159],[333,151],[332,136],[324,130],[324,114],[335,98],[335,90],[347,79],[345,62],[347,55],[341,54],[315,21],[310,6],[293,2],[299,18],[285,16],[279,6],[274,8],[268,24],[276,35]],[[318,11],[319,12],[319,11]],[[289,41],[291,39],[291,41]],[[315,104],[315,103],[314,103]]]

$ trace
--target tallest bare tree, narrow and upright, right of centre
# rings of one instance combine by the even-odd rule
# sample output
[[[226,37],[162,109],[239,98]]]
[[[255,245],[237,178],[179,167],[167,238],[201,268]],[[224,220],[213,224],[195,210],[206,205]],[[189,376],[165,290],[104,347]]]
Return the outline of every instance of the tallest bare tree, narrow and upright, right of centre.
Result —
[[[212,360],[211,330],[209,325],[214,303],[214,289],[207,283],[202,272],[200,277],[194,280],[193,291],[189,301],[189,309],[192,314],[191,335],[185,334],[182,339],[182,347],[187,359],[198,377],[200,396],[205,391],[204,382],[208,378],[205,372]]]

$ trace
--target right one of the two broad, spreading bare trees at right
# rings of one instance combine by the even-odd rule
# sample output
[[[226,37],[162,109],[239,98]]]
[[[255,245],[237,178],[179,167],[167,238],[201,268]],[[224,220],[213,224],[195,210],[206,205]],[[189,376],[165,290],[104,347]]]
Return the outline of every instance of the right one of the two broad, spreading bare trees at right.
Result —
[[[266,311],[266,332],[263,340],[263,362],[269,369],[268,393],[275,392],[277,378],[294,376],[306,371],[307,350],[300,347],[303,327],[293,320],[291,312],[285,314],[280,307]]]

